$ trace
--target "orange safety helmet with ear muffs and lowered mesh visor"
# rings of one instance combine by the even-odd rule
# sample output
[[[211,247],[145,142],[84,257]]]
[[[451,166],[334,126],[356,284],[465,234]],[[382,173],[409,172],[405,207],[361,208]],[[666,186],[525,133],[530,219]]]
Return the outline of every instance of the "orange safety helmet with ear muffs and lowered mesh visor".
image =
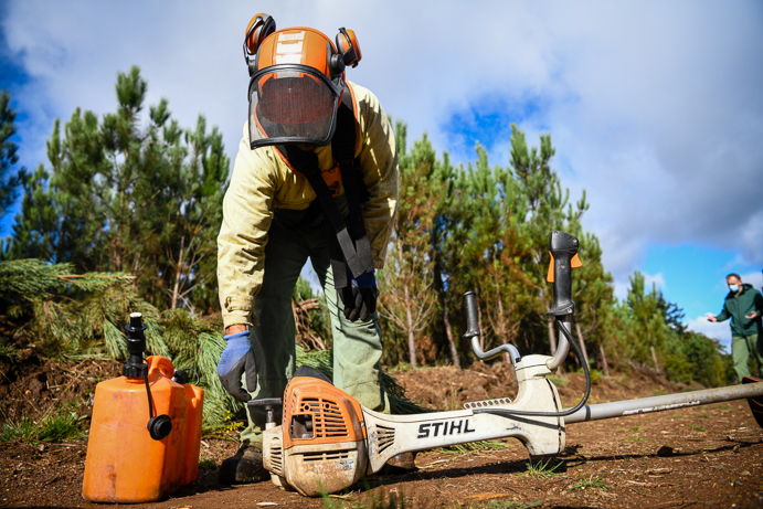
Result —
[[[335,46],[315,29],[276,31],[272,17],[256,14],[246,28],[244,57],[251,148],[331,142],[345,67],[361,59],[352,30],[339,29]]]

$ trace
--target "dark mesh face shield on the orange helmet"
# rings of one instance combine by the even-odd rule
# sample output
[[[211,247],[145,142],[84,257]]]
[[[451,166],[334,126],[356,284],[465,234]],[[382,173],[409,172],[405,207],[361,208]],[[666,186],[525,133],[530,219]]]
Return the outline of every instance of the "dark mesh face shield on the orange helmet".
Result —
[[[300,64],[266,67],[250,82],[250,145],[331,142],[343,88],[317,70]]]

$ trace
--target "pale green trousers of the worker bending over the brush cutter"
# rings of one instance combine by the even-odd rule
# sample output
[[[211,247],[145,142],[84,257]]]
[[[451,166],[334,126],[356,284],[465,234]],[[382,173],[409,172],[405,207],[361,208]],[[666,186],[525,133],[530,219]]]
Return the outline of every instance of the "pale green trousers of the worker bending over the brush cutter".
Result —
[[[273,220],[265,247],[263,286],[254,301],[259,326],[252,328],[250,335],[257,363],[257,390],[251,393],[252,399],[283,397],[286,383],[294,374],[296,326],[292,295],[309,258],[324,287],[331,319],[333,384],[363,406],[389,413],[389,400],[381,383],[379,315],[374,312],[367,321],[352,322],[345,318],[333,287],[322,220],[298,230],[287,227],[286,223],[278,215]],[[246,412],[248,425],[241,432],[242,445],[262,445],[265,412],[248,406]],[[279,425],[280,409],[275,420]]]

